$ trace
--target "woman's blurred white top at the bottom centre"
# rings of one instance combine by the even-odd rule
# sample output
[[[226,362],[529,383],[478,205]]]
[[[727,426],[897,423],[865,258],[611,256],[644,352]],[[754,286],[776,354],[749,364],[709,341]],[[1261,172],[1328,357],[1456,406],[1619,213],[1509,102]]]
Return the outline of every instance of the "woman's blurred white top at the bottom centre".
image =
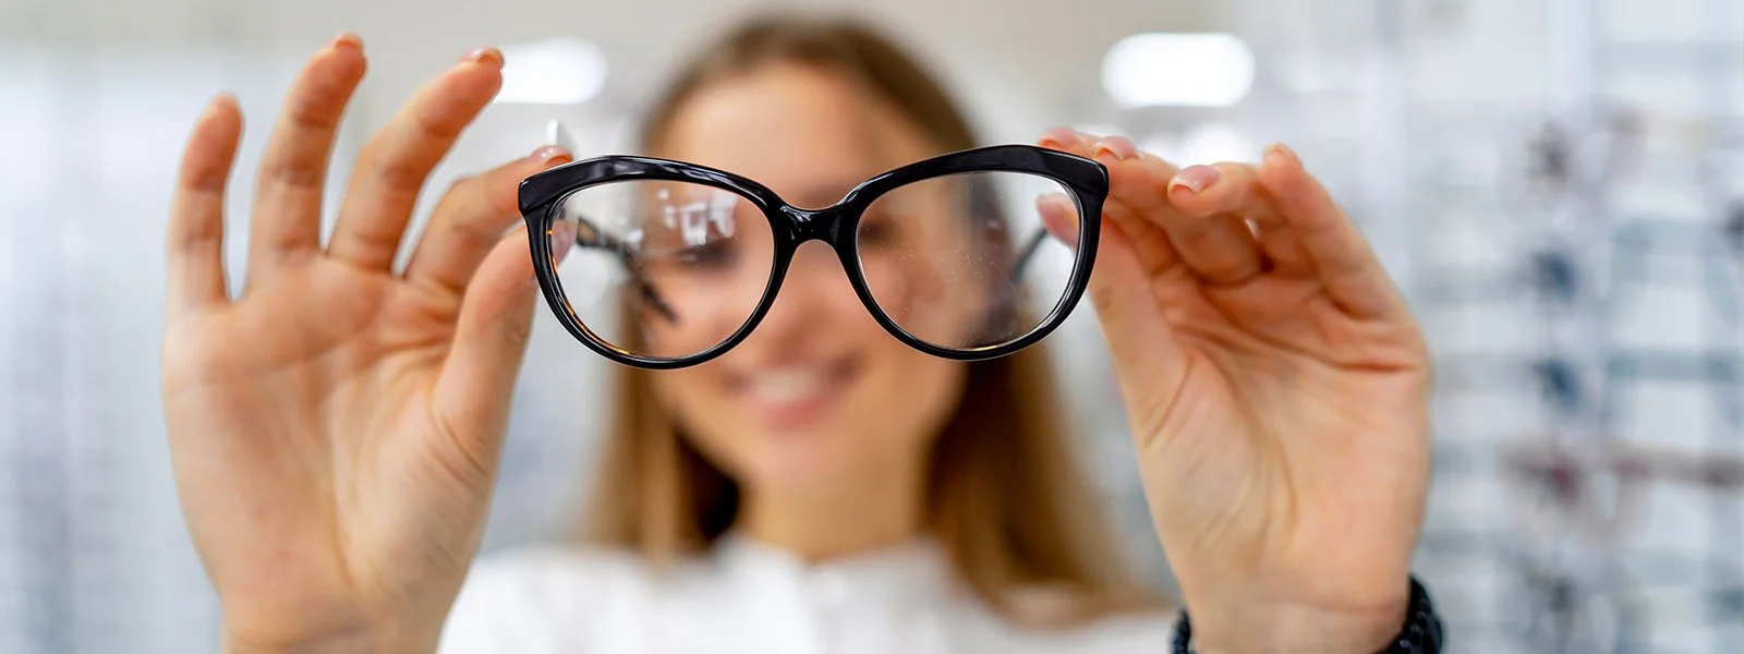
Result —
[[[921,541],[807,565],[745,537],[661,577],[637,556],[530,549],[473,567],[439,654],[1168,652],[1172,616],[1006,624]]]

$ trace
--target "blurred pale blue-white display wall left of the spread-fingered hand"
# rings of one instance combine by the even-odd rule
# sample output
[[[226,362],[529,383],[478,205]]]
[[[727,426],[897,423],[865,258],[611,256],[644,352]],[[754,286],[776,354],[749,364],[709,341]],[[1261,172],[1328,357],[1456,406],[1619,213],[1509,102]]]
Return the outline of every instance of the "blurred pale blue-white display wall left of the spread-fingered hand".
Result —
[[[270,70],[237,37],[249,12],[204,0],[152,51],[105,38],[106,7],[0,3],[0,652],[213,651],[218,614],[187,546],[164,445],[153,328],[173,166],[213,89],[248,98]],[[171,38],[171,37],[166,37]],[[215,58],[216,45],[234,56]],[[260,82],[256,82],[256,78]],[[274,84],[283,92],[283,84]],[[16,96],[14,96],[16,92]],[[192,106],[188,106],[192,105]],[[242,159],[253,153],[244,140]],[[234,187],[251,187],[239,167]],[[21,181],[23,180],[23,181]],[[75,206],[66,199],[77,197]],[[232,208],[232,218],[235,216]],[[232,220],[230,242],[246,242]],[[242,227],[242,228],[237,228]],[[140,246],[143,244],[143,246]],[[143,255],[141,255],[143,253]],[[153,270],[153,267],[157,267]],[[235,277],[232,277],[235,279]]]

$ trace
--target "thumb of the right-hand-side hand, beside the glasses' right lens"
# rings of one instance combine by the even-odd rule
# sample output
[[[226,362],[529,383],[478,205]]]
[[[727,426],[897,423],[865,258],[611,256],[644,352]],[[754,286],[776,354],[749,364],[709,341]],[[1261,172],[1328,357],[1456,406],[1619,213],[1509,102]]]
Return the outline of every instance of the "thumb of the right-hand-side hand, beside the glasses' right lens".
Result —
[[[1141,445],[1162,433],[1188,371],[1186,352],[1151,288],[1132,239],[1118,221],[1104,220],[1087,293],[1113,352],[1114,377]]]

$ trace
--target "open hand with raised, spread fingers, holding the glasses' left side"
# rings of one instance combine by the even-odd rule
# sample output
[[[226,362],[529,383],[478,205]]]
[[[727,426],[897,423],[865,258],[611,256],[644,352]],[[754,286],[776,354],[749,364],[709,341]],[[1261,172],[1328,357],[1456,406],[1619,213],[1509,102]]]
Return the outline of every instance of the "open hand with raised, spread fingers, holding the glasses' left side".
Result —
[[[481,49],[429,82],[356,160],[331,239],[321,199],[363,47],[340,37],[286,98],[260,169],[239,298],[223,204],[241,136],[199,119],[169,221],[164,410],[194,544],[230,651],[431,651],[478,549],[537,284],[516,223],[542,148],[455,183],[405,272],[431,169],[502,84]]]

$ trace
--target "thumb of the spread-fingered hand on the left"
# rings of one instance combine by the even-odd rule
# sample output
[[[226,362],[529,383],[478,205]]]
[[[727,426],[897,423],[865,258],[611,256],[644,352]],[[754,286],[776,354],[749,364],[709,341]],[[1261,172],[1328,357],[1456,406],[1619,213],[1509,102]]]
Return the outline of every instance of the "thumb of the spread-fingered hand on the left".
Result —
[[[473,453],[494,453],[508,429],[509,401],[532,337],[539,298],[527,228],[516,228],[485,256],[466,288],[448,361],[431,410],[457,434],[483,438]],[[488,457],[487,460],[495,460]]]

